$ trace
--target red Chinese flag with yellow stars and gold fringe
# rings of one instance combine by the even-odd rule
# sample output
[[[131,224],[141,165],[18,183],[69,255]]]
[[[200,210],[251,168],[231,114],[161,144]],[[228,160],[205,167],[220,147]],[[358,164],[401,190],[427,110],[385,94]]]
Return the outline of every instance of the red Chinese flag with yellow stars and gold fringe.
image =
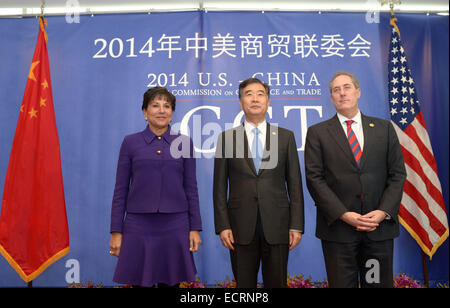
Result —
[[[40,18],[0,214],[0,253],[25,282],[69,252],[45,26]]]

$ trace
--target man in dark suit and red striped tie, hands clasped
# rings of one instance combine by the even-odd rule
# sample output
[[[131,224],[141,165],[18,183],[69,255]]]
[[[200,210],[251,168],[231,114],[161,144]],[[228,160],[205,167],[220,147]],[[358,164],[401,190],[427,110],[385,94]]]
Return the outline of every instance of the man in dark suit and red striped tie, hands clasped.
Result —
[[[363,115],[358,79],[329,83],[337,114],[308,129],[305,167],[330,287],[393,287],[393,239],[406,171],[394,127]]]

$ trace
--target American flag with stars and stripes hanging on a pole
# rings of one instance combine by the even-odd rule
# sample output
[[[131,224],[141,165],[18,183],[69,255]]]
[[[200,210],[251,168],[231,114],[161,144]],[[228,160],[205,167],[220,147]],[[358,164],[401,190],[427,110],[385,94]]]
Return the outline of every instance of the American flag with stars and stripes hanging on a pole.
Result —
[[[391,20],[389,47],[389,107],[407,171],[399,220],[431,259],[448,237],[447,213],[436,160],[395,20]]]

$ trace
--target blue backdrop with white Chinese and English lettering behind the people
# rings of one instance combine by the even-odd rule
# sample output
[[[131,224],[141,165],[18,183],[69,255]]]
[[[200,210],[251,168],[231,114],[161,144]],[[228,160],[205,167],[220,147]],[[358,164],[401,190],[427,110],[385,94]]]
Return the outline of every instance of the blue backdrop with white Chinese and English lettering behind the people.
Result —
[[[398,26],[430,133],[448,212],[448,17],[398,14]],[[214,234],[212,178],[217,134],[242,117],[236,90],[258,77],[271,85],[269,121],[295,132],[304,180],[307,127],[332,117],[328,81],[338,70],[360,79],[360,109],[389,119],[389,16],[364,13],[179,12],[48,17],[48,48],[61,144],[71,252],[34,280],[113,285],[110,207],[119,147],[145,126],[142,94],[166,86],[177,96],[174,127],[196,146],[203,244],[195,254],[203,282],[232,277],[228,251]],[[0,19],[0,191],[37,39],[35,18]],[[305,183],[305,182],[304,182]],[[305,234],[290,253],[289,274],[326,278],[315,207],[306,186]],[[428,265],[448,281],[448,241]],[[79,276],[77,275],[79,269]],[[394,271],[423,279],[419,246],[401,228]],[[0,287],[24,282],[0,258]]]

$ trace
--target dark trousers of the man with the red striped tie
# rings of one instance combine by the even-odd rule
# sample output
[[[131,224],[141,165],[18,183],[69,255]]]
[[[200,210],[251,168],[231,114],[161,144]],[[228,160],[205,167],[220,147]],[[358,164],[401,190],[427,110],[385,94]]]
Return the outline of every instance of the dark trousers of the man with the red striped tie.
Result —
[[[394,240],[371,241],[365,233],[353,243],[322,240],[330,288],[393,288]]]

